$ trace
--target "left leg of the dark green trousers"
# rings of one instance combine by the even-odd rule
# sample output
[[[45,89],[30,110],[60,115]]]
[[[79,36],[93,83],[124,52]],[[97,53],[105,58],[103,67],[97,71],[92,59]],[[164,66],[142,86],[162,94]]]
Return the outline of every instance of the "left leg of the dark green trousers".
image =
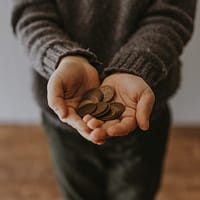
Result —
[[[105,200],[106,172],[98,146],[43,117],[61,192],[67,200]]]

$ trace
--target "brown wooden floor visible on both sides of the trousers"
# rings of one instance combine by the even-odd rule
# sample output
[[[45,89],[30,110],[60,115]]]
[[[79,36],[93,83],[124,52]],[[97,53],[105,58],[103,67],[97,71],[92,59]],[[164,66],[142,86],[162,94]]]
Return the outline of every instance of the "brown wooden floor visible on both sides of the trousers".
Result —
[[[0,126],[0,199],[62,200],[39,126]],[[200,200],[200,127],[173,128],[156,200]]]

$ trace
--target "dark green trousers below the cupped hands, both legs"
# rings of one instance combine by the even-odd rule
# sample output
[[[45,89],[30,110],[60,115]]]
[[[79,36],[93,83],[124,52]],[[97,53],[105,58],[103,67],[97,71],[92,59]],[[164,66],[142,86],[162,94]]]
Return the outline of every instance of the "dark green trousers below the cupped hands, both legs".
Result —
[[[170,126],[169,109],[136,129],[95,145],[43,114],[58,182],[67,200],[152,200],[159,188]]]

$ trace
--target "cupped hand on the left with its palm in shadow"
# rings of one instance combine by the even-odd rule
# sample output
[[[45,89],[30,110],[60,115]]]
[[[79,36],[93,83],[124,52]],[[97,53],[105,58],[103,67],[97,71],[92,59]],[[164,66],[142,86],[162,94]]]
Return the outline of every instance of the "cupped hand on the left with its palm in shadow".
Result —
[[[83,94],[99,86],[96,69],[83,57],[64,57],[47,85],[49,107],[59,119],[75,128],[84,138],[89,139],[91,131],[76,113]]]

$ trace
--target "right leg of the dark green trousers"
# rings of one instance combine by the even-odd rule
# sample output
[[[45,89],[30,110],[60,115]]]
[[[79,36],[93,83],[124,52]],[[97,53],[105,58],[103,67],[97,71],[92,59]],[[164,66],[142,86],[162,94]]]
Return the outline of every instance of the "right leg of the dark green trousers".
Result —
[[[153,200],[159,188],[170,126],[169,110],[149,131],[111,140],[108,156],[109,200]]]

